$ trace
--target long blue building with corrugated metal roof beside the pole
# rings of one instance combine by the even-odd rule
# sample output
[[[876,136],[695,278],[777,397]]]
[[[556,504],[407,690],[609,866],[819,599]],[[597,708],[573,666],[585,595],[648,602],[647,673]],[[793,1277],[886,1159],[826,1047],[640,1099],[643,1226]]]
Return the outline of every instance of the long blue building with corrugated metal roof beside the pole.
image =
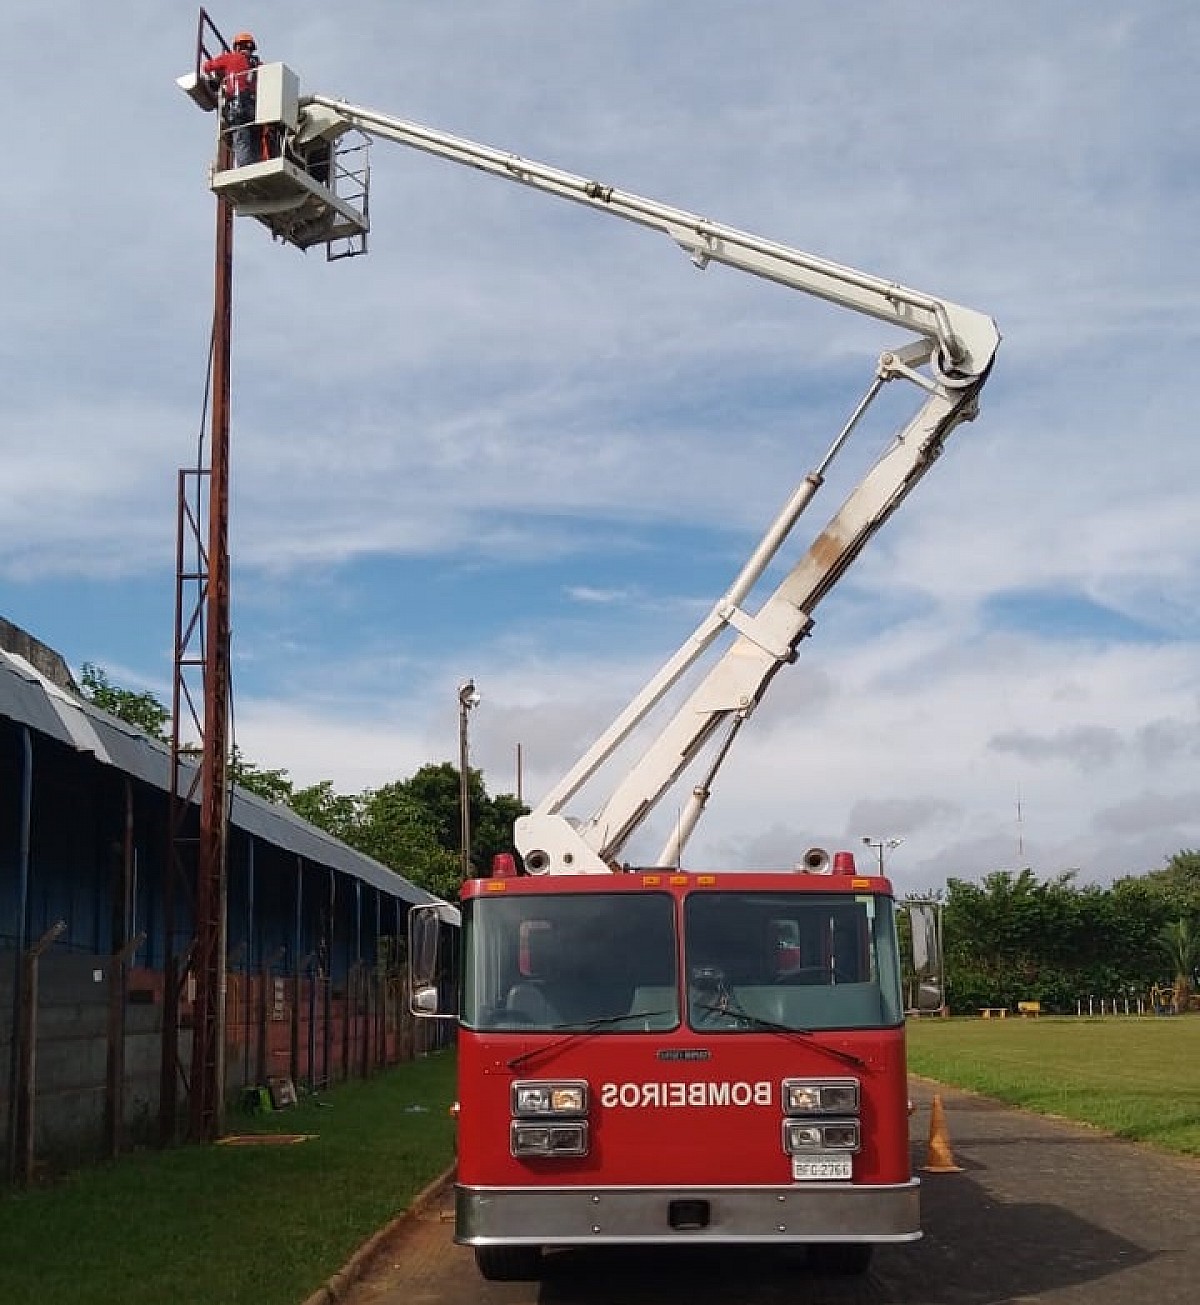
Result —
[[[91,1150],[86,1135],[104,1118],[116,1150],[128,1125],[157,1114],[162,967],[192,938],[190,900],[177,891],[170,946],[163,932],[170,786],[164,744],[86,702],[57,654],[0,621],[0,1117],[10,1167],[26,1146]],[[411,1021],[406,1028],[397,962],[410,907],[429,903],[438,899],[288,808],[235,791],[227,1096],[279,1074],[303,1079],[307,1069],[323,1084],[411,1054],[419,1035]],[[453,934],[457,910],[441,903],[441,914]],[[39,944],[31,1088],[21,966]],[[187,1001],[184,975],[184,1054]],[[35,1126],[22,1126],[23,1101],[37,1103]]]

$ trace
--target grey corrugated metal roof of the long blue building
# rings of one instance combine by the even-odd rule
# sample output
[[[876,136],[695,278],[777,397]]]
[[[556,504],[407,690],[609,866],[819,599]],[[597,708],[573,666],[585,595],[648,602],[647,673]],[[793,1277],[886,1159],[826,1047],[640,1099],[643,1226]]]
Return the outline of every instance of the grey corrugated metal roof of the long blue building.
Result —
[[[60,689],[25,658],[0,649],[0,716],[8,716],[77,752],[91,753],[97,761],[113,766],[147,784],[171,790],[171,750],[117,716]],[[233,791],[230,820],[233,826],[262,838],[275,847],[296,852],[318,865],[329,865],[372,885],[389,897],[413,904],[441,903],[424,889],[410,883],[316,825],[301,820],[290,806],[265,801],[244,788]],[[458,911],[449,903],[443,917],[457,923]]]

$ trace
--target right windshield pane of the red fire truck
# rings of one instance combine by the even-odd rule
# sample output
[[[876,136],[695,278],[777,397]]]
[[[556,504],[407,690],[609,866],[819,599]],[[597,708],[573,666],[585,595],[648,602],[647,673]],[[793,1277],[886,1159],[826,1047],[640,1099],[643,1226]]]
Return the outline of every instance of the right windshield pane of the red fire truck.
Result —
[[[890,898],[693,893],[683,919],[694,1028],[878,1028],[904,1018]]]

